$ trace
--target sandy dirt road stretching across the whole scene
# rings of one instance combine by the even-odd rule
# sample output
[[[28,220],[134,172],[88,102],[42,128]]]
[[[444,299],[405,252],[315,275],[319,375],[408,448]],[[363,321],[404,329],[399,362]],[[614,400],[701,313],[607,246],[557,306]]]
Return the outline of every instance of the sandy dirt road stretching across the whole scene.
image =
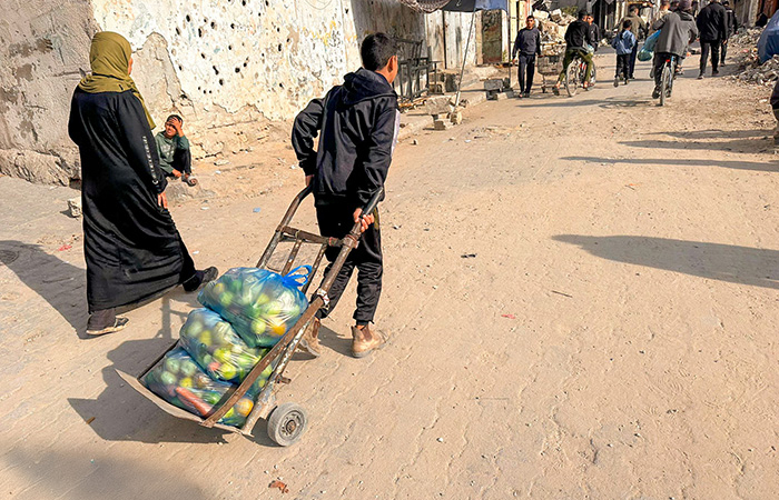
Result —
[[[612,57],[598,62],[590,92],[489,102],[398,147],[382,206],[391,342],[347,356],[351,290],[324,356],[287,371],[279,401],[310,417],[287,449],[124,386],[115,369],[144,369],[195,298],[79,338],[73,194],[0,179],[0,498],[779,497],[768,91],[688,69],[658,108],[645,66],[614,89]],[[300,177],[204,173],[265,192],[174,207],[196,261],[253,263]],[[313,210],[300,220],[314,228]]]

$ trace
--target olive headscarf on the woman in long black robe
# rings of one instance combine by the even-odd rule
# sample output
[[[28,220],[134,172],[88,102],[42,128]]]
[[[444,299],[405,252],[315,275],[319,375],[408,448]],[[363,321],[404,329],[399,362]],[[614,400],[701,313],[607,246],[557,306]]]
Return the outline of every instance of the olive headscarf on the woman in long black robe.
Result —
[[[89,64],[92,67],[92,73],[83,77],[78,86],[89,93],[131,90],[144,107],[149,127],[154,129],[155,121],[128,72],[132,48],[125,37],[111,31],[100,31],[92,38],[92,46],[89,49]]]

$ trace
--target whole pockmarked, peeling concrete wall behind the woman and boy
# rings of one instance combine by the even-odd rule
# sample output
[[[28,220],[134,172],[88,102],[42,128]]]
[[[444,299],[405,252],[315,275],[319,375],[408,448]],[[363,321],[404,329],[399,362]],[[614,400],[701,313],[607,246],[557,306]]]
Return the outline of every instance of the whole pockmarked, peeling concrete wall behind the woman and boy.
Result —
[[[99,29],[130,40],[132,77],[155,120],[181,113],[196,158],[256,142],[258,123],[289,119],[323,96],[359,67],[366,33],[431,32],[425,16],[396,0],[9,1],[0,20],[0,60],[10,62],[0,64],[0,172],[45,182],[78,177],[66,124]],[[441,23],[451,40],[434,44],[446,47],[447,62],[462,60],[470,18]]]

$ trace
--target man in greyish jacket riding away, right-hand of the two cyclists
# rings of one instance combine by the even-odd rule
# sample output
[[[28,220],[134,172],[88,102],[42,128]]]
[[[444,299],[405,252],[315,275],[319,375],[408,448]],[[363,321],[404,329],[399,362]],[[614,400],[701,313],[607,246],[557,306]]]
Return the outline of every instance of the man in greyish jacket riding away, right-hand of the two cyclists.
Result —
[[[684,57],[688,44],[698,38],[698,27],[692,17],[690,0],[681,0],[679,9],[652,24],[653,30],[660,30],[660,36],[654,44],[654,91],[652,98],[660,97],[662,80],[662,67],[669,57],[676,56],[677,60]]]

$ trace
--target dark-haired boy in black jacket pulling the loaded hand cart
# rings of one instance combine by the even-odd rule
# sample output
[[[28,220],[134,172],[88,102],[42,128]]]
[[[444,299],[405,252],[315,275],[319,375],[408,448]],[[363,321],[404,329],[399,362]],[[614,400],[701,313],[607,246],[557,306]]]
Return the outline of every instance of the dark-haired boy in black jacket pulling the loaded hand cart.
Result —
[[[319,320],[336,307],[355,268],[357,309],[352,353],[362,358],[384,343],[384,337],[369,327],[384,273],[378,212],[363,214],[363,208],[384,188],[397,142],[401,113],[392,88],[397,76],[397,47],[384,33],[369,34],[361,56],[363,68],[347,74],[344,84],[331,89],[324,99],[310,101],[293,126],[293,148],[306,183],[313,186],[322,236],[344,238],[356,223],[363,231],[329,289],[329,306],[317,312],[304,333],[300,347],[313,356],[319,356]],[[317,132],[319,143],[314,149]],[[335,247],[325,252],[331,266],[338,252]]]

